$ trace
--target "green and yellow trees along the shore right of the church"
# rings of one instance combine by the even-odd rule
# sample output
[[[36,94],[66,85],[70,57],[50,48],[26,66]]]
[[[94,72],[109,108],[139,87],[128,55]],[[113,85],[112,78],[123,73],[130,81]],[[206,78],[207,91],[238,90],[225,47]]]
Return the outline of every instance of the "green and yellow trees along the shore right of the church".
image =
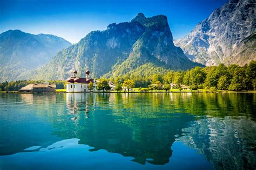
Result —
[[[195,67],[186,71],[173,71],[165,74],[153,74],[151,77],[116,77],[112,81],[118,87],[125,87],[125,81],[134,82],[134,87],[154,87],[154,89],[170,89],[170,83],[181,87],[184,84],[191,90],[255,90],[256,89],[256,61],[248,65],[230,65],[210,67]]]

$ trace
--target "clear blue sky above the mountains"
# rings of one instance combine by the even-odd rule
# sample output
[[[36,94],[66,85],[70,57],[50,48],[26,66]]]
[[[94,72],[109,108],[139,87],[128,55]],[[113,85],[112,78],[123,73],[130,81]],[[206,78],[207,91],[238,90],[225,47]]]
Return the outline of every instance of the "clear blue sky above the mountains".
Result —
[[[227,0],[0,0],[0,33],[21,30],[53,34],[77,43],[111,23],[129,22],[139,12],[167,16],[174,39],[184,37]]]

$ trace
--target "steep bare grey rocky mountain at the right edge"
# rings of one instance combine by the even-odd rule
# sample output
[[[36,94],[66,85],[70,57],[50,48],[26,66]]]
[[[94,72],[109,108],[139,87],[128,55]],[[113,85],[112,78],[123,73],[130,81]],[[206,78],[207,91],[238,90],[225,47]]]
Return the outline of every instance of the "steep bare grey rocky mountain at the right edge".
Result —
[[[256,60],[256,1],[230,0],[174,43],[206,66]]]

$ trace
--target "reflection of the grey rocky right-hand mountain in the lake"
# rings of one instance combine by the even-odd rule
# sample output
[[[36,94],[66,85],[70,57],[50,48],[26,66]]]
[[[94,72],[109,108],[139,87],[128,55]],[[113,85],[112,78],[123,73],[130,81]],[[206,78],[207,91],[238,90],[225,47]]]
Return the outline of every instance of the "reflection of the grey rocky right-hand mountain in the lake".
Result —
[[[216,169],[253,169],[256,166],[256,124],[246,117],[207,117],[183,129],[179,140],[196,148]]]

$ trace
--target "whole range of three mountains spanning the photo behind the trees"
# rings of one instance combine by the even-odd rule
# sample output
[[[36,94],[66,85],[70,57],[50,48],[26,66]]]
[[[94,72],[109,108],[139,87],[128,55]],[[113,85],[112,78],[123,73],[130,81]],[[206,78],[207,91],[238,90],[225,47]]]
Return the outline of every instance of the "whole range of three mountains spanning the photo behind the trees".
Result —
[[[171,69],[256,60],[256,2],[229,0],[173,42],[167,17],[145,17],[92,31],[77,44],[19,30],[0,34],[0,80],[65,80],[72,70],[91,77],[147,77]],[[177,47],[178,46],[178,47]]]

